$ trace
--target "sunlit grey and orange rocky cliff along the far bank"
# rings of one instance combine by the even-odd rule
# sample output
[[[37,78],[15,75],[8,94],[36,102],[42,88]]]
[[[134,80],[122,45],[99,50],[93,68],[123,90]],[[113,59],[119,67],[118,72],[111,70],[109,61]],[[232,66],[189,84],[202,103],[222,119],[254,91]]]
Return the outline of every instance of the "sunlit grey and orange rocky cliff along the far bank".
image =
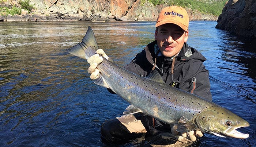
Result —
[[[148,0],[30,0],[30,13],[0,16],[1,21],[155,21],[165,5],[154,6]],[[19,7],[18,0],[7,0],[8,7]],[[217,16],[187,9],[190,20],[217,20]]]

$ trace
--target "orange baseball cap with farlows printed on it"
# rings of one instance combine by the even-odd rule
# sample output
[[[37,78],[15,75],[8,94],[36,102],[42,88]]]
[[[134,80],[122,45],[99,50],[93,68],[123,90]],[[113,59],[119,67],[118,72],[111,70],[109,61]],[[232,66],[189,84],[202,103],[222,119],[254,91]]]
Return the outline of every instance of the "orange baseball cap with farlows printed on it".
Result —
[[[173,23],[180,26],[184,31],[188,30],[189,17],[187,11],[178,6],[165,7],[158,15],[155,27],[166,23]]]

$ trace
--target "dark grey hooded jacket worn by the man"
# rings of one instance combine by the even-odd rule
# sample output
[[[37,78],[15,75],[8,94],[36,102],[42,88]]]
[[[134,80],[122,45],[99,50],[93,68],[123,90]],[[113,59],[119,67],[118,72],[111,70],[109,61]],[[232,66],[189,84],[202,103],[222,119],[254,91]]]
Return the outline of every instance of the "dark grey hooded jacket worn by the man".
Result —
[[[209,71],[203,65],[206,58],[199,51],[184,43],[180,53],[175,58],[172,74],[173,60],[164,56],[156,57],[155,44],[157,41],[148,44],[124,68],[145,77],[151,73],[156,58],[155,69],[159,71],[166,84],[212,101]]]

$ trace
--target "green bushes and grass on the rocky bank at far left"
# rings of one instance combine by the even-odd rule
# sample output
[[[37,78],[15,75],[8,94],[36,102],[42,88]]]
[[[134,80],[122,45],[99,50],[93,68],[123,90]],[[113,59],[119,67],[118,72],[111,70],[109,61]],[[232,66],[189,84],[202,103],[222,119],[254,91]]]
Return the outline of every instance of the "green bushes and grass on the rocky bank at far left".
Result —
[[[6,2],[7,0],[0,0],[0,3]],[[2,16],[7,16],[8,14],[14,15],[14,14],[21,14],[21,9],[25,9],[27,11],[31,11],[32,9],[35,9],[33,7],[33,5],[29,4],[29,0],[20,0],[18,2],[20,4],[20,8],[19,7],[12,7],[12,8],[8,8],[8,7],[0,7],[0,15]]]

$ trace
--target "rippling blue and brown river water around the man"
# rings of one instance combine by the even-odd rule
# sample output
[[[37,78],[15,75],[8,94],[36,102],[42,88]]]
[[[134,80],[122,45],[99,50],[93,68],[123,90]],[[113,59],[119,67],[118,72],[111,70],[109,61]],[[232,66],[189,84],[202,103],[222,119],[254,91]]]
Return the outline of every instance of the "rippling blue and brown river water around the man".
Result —
[[[101,124],[128,103],[95,85],[87,62],[65,49],[91,26],[99,48],[124,66],[153,41],[154,24],[0,22],[0,146],[105,146]],[[239,130],[250,137],[205,134],[197,146],[256,146],[256,47],[216,24],[190,22],[188,44],[207,58],[213,101],[247,120]]]

